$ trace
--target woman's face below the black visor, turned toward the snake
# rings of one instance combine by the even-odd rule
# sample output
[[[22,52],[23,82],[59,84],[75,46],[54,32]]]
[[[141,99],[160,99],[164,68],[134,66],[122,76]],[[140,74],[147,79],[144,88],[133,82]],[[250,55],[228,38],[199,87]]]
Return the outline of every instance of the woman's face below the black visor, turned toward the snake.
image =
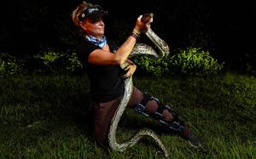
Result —
[[[102,37],[104,35],[105,24],[100,18],[97,21],[93,20],[85,20],[83,23],[84,30],[87,34],[92,35],[94,37]]]

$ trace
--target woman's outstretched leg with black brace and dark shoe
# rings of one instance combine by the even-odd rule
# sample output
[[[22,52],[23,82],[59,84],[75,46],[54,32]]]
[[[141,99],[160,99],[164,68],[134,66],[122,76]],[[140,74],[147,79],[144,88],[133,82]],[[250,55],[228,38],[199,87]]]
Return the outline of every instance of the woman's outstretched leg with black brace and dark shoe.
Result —
[[[177,113],[169,105],[161,105],[158,99],[149,94],[143,94],[137,88],[134,88],[128,107],[144,116],[151,116],[179,134],[183,139],[188,139],[189,144],[198,147],[201,146],[200,140],[191,133],[191,130],[177,116]]]

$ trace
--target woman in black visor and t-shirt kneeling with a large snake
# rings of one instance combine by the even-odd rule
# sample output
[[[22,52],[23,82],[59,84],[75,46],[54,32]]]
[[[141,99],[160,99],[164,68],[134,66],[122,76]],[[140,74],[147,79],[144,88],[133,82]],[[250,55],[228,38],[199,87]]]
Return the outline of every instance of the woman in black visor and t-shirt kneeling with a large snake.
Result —
[[[108,12],[100,6],[85,2],[79,4],[72,14],[73,23],[84,33],[84,40],[80,43],[77,54],[90,79],[90,94],[95,103],[95,136],[103,147],[108,145],[109,124],[124,93],[124,78],[131,77],[137,69],[137,65],[128,60],[128,56],[139,35],[148,31],[150,23],[153,22],[151,18],[143,23],[140,15],[131,35],[118,47],[104,36],[105,24],[102,16],[105,14]],[[121,65],[127,64],[124,74]],[[201,145],[199,139],[172,108],[161,105],[151,95],[134,88],[127,106],[145,116],[154,117],[183,139],[188,139],[191,145]]]

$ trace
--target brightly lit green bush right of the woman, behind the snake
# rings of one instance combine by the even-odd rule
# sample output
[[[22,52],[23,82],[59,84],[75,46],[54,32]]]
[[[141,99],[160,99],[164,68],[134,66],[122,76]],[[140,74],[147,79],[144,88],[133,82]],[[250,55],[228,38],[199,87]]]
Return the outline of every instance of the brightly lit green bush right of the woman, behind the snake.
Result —
[[[201,48],[179,49],[178,54],[160,60],[138,57],[134,61],[139,68],[154,76],[210,76],[218,74],[224,67],[224,63],[218,64],[208,51]]]

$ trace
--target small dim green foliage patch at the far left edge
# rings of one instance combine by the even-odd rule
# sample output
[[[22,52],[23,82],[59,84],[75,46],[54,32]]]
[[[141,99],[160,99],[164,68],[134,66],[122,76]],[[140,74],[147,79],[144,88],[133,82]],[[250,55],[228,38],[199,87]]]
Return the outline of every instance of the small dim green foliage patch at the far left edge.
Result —
[[[22,70],[23,63],[21,60],[9,54],[0,54],[0,77],[15,75]]]

